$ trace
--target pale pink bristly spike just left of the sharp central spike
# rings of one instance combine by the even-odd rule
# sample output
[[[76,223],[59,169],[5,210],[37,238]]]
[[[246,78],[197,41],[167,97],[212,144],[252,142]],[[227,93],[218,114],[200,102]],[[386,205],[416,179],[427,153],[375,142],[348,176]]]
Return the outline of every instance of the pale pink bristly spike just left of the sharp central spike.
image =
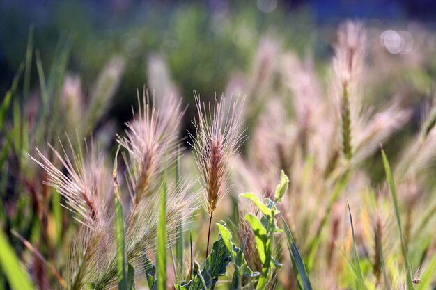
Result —
[[[133,204],[153,193],[160,175],[176,160],[179,136],[178,128],[184,111],[181,99],[166,106],[161,114],[150,104],[148,93],[143,90],[143,111],[139,101],[139,116],[127,123],[126,137],[118,136],[118,143],[128,152],[127,167],[133,189]]]

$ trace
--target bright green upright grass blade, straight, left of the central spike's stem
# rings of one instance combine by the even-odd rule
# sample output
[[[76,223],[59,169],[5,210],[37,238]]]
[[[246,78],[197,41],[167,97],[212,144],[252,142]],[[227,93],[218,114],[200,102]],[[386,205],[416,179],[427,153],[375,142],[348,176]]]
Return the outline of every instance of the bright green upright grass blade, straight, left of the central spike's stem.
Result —
[[[166,177],[160,190],[159,225],[157,227],[157,290],[166,289]]]

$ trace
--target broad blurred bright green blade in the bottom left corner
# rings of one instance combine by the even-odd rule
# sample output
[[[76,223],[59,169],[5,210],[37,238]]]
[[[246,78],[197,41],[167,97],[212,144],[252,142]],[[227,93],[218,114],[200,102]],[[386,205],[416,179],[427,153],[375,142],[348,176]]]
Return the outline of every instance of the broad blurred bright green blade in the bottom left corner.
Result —
[[[6,235],[0,231],[0,268],[6,275],[12,290],[32,290],[34,289],[29,276],[22,268],[20,261],[15,255],[11,245],[8,243]]]

